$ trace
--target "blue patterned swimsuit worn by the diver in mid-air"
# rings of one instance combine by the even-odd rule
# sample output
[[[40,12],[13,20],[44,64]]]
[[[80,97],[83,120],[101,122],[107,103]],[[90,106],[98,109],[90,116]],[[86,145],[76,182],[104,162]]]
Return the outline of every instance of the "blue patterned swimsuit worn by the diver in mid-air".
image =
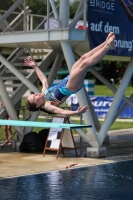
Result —
[[[64,78],[60,83],[57,85],[50,87],[46,92],[45,92],[45,99],[46,101],[52,101],[52,102],[60,102],[63,97],[70,96],[71,94],[75,94],[79,90],[76,90],[74,92],[69,91],[66,88],[66,84],[69,80],[70,75],[68,75],[66,78]]]

